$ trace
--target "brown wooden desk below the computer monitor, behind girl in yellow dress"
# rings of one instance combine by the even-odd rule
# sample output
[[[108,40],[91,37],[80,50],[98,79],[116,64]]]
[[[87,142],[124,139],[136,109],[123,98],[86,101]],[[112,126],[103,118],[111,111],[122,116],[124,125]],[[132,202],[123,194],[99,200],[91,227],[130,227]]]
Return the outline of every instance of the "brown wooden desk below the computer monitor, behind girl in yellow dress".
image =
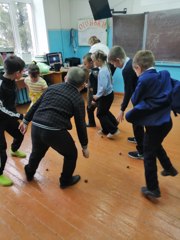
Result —
[[[44,78],[49,85],[63,82],[63,76],[67,73],[68,69],[63,68],[59,72],[50,71],[46,74],[41,74],[41,77]],[[18,90],[26,88],[24,83],[24,77],[16,81]]]

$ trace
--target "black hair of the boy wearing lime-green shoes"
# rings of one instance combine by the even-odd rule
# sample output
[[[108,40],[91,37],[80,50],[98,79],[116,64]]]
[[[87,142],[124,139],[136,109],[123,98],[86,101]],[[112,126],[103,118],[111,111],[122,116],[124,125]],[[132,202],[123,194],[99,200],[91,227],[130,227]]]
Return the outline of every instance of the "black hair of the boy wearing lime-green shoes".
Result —
[[[22,71],[25,67],[25,62],[16,55],[11,55],[4,60],[4,71],[7,74],[13,74]]]

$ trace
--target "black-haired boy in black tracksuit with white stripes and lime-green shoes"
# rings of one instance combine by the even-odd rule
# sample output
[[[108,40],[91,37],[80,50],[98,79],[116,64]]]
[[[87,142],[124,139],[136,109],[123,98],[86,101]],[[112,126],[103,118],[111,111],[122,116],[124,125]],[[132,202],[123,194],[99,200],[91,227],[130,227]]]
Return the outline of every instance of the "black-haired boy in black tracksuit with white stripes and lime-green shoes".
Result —
[[[5,164],[7,161],[7,143],[5,139],[5,131],[14,139],[11,144],[11,155],[24,158],[26,154],[19,151],[19,147],[24,136],[19,131],[19,119],[23,119],[23,115],[17,113],[15,107],[16,101],[16,82],[20,79],[25,67],[24,61],[17,56],[10,56],[4,61],[5,73],[0,77],[0,185],[10,186],[12,180],[3,175]]]

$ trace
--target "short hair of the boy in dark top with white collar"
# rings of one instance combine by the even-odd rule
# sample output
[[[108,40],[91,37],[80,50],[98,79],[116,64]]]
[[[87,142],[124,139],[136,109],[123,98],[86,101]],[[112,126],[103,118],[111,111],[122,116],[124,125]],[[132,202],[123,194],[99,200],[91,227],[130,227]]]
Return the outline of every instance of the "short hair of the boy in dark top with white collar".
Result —
[[[126,59],[126,53],[124,51],[124,48],[121,46],[113,46],[108,54],[108,60],[109,61],[115,61],[117,58],[121,59],[121,60],[125,60]]]

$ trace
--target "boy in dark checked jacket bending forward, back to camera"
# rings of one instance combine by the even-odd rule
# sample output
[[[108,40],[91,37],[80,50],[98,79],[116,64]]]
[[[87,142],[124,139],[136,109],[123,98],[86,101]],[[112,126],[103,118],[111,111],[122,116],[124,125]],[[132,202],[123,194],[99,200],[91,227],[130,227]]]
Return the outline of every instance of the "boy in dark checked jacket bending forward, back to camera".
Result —
[[[84,88],[85,71],[72,67],[67,73],[66,82],[50,86],[30,108],[20,125],[24,134],[32,121],[32,152],[25,166],[28,181],[32,181],[36,170],[52,147],[64,156],[59,178],[60,187],[67,188],[79,182],[80,176],[73,176],[78,157],[75,142],[68,130],[72,129],[70,119],[74,117],[79,141],[84,157],[89,157],[85,107],[80,91]]]

